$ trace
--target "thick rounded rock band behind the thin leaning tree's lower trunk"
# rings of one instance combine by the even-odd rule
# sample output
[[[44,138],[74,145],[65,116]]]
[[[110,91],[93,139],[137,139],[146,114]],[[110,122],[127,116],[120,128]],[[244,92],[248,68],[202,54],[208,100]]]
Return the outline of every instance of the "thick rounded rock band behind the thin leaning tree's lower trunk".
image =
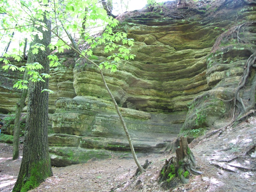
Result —
[[[54,132],[93,137],[124,137],[114,105],[109,101],[92,99],[77,96],[56,101],[56,112],[50,118]],[[127,108],[121,108],[121,111],[124,111],[124,118],[131,132],[178,133],[186,115],[186,112],[137,113],[137,110]]]

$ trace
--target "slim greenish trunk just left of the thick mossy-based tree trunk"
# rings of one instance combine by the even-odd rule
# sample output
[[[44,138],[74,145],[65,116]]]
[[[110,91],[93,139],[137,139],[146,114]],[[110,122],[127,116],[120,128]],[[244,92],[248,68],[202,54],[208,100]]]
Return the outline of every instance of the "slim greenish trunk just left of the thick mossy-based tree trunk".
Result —
[[[24,73],[24,80],[28,80],[28,73],[27,70],[25,70]],[[16,107],[16,114],[15,114],[15,123],[14,123],[14,132],[13,132],[13,156],[12,160],[19,159],[20,154],[19,154],[19,143],[20,143],[20,116],[21,116],[21,111],[25,105],[25,100],[27,97],[28,90],[23,89],[21,98],[19,102],[17,103]]]

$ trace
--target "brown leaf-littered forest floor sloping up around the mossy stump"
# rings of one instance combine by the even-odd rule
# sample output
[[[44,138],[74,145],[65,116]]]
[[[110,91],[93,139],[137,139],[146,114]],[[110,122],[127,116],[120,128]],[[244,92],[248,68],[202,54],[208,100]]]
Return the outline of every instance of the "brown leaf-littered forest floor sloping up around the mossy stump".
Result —
[[[142,164],[146,159],[152,164],[147,172],[137,177],[134,176],[136,164],[133,159],[117,157],[107,160],[92,159],[85,164],[67,167],[53,167],[54,176],[47,178],[30,192],[255,192],[255,144],[256,117],[250,117],[235,127],[209,130],[189,145],[196,157],[198,170],[203,175],[192,175],[188,184],[180,184],[167,190],[158,182],[165,159],[174,155],[169,153],[150,154],[139,158]],[[12,146],[0,143],[1,192],[12,191],[20,163],[21,160],[12,160]]]

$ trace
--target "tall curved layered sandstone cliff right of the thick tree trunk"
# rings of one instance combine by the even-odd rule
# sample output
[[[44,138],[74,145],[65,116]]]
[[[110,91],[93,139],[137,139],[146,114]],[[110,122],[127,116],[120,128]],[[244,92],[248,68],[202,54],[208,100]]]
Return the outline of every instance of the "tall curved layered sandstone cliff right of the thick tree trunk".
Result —
[[[115,73],[104,70],[138,155],[162,152],[164,141],[180,130],[188,134],[218,127],[216,120],[230,114],[244,65],[256,50],[255,6],[242,0],[223,1],[216,10],[193,9],[186,3],[178,9],[172,3],[164,6],[171,10],[165,15],[159,10],[135,11],[119,18],[124,22],[118,30],[135,40],[131,53],[136,57],[121,60]],[[252,23],[232,32],[245,22]],[[96,63],[108,56],[102,47],[94,55]],[[64,58],[74,68],[51,71],[52,165],[128,153],[128,141],[97,69],[72,53]],[[243,99],[248,100],[248,90]]]

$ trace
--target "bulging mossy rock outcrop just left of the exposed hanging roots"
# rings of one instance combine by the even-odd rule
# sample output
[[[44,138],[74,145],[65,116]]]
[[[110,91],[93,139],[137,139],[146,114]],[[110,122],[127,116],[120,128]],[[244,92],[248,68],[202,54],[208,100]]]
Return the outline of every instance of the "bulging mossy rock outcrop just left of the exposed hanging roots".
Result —
[[[238,18],[246,17],[244,10],[256,15],[252,7],[247,7],[243,11],[238,11]],[[255,27],[255,23],[252,26]],[[211,54],[207,57],[206,81],[211,90],[201,93],[192,101],[182,131],[188,133],[191,129],[211,126],[218,128],[216,120],[223,121],[222,118],[233,114],[235,89],[241,82],[247,59],[256,51],[256,36],[252,26],[243,27],[239,33],[231,26],[217,39]],[[240,38],[239,42],[237,35]],[[251,81],[252,77],[249,77],[244,91],[240,94],[245,104],[249,100],[247,90],[250,90]],[[240,111],[243,110],[240,103],[236,104],[237,107]]]

